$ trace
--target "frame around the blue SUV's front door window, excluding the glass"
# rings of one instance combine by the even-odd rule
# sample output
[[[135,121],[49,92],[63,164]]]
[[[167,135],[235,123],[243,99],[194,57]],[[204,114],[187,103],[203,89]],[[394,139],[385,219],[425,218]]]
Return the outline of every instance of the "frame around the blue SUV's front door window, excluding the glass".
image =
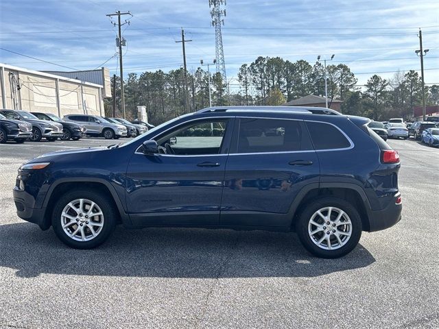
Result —
[[[224,153],[219,153],[219,154],[184,154],[184,155],[179,155],[179,154],[154,154],[154,156],[178,156],[179,158],[182,157],[195,157],[195,156],[228,156],[230,154],[230,143],[232,141],[233,138],[233,131],[234,131],[234,127],[235,127],[235,121],[236,118],[233,117],[202,117],[202,118],[196,118],[196,119],[192,119],[192,120],[187,120],[184,121],[182,123],[179,123],[178,125],[174,125],[172,127],[169,127],[169,129],[164,130],[163,132],[161,132],[160,134],[157,134],[156,136],[153,136],[151,139],[153,139],[154,141],[156,141],[156,139],[160,138],[160,136],[163,136],[164,134],[166,134],[167,132],[169,132],[169,130],[174,130],[174,128],[178,128],[182,125],[186,125],[187,123],[191,123],[192,121],[206,121],[206,120],[210,120],[210,119],[223,119],[226,121],[229,121],[226,127],[226,134],[224,134],[224,138],[222,141],[222,145],[221,145],[221,149],[224,149]],[[228,128],[230,127],[230,129]],[[226,147],[224,147],[224,144],[227,144]],[[142,147],[142,145],[139,145],[139,147],[137,147],[137,149],[134,151],[134,154],[140,154],[142,156],[145,156],[145,154],[143,154],[142,152],[139,151],[139,149]]]

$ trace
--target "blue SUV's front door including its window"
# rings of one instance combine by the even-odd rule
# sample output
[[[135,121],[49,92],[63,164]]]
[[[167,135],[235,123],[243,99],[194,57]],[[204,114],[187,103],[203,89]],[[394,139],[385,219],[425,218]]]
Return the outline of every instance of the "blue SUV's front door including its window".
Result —
[[[126,203],[134,225],[219,223],[232,125],[228,118],[183,123],[154,138],[163,153],[132,156]]]

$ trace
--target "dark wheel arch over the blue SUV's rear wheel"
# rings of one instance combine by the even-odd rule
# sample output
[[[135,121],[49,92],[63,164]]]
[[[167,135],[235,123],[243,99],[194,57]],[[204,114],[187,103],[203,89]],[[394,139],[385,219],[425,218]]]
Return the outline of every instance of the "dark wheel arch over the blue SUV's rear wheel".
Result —
[[[366,193],[364,193],[360,186],[348,183],[311,184],[311,186],[305,186],[305,188],[302,188],[289,210],[291,230],[295,230],[294,226],[296,224],[296,219],[302,209],[312,200],[321,197],[337,197],[353,204],[361,218],[363,230],[370,230],[369,213],[371,208]]]

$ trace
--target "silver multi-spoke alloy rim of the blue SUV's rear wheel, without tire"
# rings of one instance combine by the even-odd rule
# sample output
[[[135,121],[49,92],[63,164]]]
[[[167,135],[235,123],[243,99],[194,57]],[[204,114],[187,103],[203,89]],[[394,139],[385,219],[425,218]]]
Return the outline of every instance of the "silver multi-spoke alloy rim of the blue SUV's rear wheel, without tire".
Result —
[[[325,250],[339,249],[348,243],[352,234],[352,222],[348,214],[335,207],[320,208],[308,223],[311,241]]]

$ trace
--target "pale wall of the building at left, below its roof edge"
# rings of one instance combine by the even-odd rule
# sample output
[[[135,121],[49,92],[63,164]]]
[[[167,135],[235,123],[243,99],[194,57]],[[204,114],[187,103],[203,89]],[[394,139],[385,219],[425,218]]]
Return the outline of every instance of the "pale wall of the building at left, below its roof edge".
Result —
[[[64,77],[45,75],[38,72],[29,73],[27,70],[3,68],[5,82],[5,108],[14,108],[11,97],[10,73],[14,74],[19,82],[20,89],[16,89],[16,108],[29,112],[53,113],[63,117],[66,114],[104,114],[104,103],[99,86],[82,84],[76,80],[69,81]],[[13,83],[12,83],[13,84]],[[57,84],[59,88],[59,108]],[[14,84],[13,84],[14,85]],[[0,89],[0,97],[1,93]],[[3,107],[3,99],[0,98],[0,106]],[[101,112],[102,111],[102,112]]]

